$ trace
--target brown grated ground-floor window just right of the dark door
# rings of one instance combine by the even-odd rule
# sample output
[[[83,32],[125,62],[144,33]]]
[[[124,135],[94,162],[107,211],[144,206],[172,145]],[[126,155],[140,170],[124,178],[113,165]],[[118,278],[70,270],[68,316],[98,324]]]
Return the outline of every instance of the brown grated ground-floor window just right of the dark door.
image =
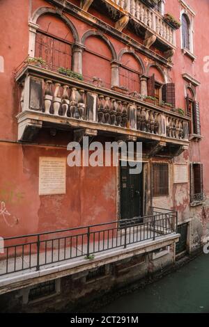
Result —
[[[169,165],[167,163],[153,164],[153,196],[169,195]]]

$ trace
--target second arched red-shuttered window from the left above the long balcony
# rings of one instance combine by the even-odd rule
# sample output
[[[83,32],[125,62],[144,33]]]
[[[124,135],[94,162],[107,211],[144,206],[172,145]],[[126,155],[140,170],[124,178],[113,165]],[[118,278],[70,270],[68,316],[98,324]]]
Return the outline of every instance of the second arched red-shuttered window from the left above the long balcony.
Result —
[[[86,38],[83,54],[84,80],[92,82],[100,79],[102,86],[111,88],[112,53],[109,45],[102,38],[91,35]]]

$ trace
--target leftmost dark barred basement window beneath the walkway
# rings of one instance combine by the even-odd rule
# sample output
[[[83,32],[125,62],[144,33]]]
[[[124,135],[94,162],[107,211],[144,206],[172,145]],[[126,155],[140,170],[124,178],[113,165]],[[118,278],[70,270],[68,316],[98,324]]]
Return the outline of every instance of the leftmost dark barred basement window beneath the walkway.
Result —
[[[29,302],[44,298],[56,293],[55,280],[41,282],[29,291]]]

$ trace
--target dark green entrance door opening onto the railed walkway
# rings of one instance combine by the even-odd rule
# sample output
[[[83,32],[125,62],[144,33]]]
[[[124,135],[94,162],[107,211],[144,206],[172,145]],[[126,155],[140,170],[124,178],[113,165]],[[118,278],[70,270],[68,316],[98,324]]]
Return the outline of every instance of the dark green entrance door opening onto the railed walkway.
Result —
[[[130,175],[129,171],[129,166],[121,166],[121,219],[141,216],[142,173]]]

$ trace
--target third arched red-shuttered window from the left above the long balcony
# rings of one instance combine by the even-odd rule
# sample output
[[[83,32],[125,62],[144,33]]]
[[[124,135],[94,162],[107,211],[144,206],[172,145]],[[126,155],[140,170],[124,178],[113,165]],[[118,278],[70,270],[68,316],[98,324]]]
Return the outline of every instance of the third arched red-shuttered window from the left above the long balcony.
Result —
[[[140,93],[140,74],[142,68],[132,54],[123,54],[121,58],[121,67],[119,69],[120,86],[125,86],[130,93]]]

